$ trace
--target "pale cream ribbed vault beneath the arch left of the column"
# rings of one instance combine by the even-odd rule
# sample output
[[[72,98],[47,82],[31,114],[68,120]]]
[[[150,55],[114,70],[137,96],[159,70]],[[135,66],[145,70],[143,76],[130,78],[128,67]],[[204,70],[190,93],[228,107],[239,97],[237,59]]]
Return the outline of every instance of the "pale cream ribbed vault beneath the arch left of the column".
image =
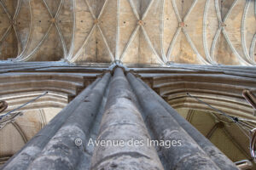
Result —
[[[61,108],[48,107],[23,111],[15,122],[6,124],[0,129],[0,167],[23,147],[39,130],[41,130]],[[7,159],[3,159],[7,158]]]

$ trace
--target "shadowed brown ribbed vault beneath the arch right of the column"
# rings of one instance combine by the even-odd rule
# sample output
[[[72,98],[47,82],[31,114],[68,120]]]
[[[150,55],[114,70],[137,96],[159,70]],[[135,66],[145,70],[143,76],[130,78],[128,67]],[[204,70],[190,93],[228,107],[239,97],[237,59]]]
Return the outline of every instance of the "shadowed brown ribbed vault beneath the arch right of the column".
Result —
[[[191,109],[177,109],[177,111],[232,161],[252,159],[248,149],[249,139],[235,122],[211,111]]]

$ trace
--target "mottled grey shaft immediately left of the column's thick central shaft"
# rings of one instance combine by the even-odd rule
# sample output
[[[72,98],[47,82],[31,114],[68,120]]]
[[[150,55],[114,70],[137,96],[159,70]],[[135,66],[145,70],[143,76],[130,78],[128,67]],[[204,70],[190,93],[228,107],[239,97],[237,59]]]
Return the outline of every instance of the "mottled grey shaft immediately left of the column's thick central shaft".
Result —
[[[90,90],[90,94],[80,102],[28,169],[76,169],[90,138],[90,127],[95,121],[110,77],[110,73],[106,73]],[[79,143],[82,142],[80,146],[75,144],[78,139]]]

